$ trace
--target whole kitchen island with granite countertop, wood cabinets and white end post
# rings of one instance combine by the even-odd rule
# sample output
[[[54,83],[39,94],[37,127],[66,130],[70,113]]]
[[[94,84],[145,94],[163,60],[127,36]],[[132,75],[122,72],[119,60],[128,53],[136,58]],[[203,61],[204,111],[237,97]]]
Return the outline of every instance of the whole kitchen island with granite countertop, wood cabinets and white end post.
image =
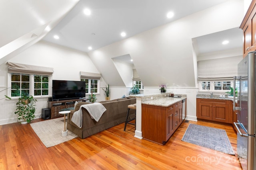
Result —
[[[168,97],[168,93],[131,95],[136,97],[136,131],[134,137],[163,145],[186,117],[186,95]],[[185,104],[185,103],[184,103]]]

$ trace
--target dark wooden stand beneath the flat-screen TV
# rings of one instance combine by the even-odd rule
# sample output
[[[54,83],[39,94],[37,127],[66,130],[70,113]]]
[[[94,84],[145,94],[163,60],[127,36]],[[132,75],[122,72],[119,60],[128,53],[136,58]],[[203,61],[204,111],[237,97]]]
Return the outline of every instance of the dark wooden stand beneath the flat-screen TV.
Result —
[[[63,114],[59,114],[61,109],[74,107],[76,101],[84,102],[85,99],[73,99],[73,100],[60,100],[60,101],[48,101],[48,108],[51,109],[51,119],[63,117]]]

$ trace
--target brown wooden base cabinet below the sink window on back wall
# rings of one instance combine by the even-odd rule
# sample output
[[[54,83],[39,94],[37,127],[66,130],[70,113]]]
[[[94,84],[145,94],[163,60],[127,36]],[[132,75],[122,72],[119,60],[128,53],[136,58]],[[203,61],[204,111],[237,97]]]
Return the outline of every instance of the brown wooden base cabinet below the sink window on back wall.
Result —
[[[224,123],[232,123],[229,100],[197,99],[197,117]]]

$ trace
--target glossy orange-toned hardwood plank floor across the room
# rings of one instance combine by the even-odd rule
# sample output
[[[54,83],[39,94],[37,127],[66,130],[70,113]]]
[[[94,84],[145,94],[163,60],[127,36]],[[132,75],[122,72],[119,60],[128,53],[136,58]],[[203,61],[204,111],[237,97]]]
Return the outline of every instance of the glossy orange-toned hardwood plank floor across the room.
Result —
[[[189,123],[225,129],[236,152],[236,133],[231,125]],[[189,123],[183,122],[164,146],[135,138],[134,126],[127,125],[123,131],[122,123],[50,148],[29,124],[2,125],[0,170],[241,170],[236,156],[181,141]]]

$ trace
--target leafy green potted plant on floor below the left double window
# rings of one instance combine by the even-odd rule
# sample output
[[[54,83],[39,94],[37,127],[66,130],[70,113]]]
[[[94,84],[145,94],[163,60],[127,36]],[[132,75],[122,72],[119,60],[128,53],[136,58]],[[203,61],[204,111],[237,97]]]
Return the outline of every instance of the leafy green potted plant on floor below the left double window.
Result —
[[[30,123],[30,121],[35,118],[36,102],[37,100],[34,99],[33,96],[26,96],[22,94],[20,98],[18,98],[16,111],[14,113],[17,114],[18,120],[23,120],[21,122],[22,124]]]

